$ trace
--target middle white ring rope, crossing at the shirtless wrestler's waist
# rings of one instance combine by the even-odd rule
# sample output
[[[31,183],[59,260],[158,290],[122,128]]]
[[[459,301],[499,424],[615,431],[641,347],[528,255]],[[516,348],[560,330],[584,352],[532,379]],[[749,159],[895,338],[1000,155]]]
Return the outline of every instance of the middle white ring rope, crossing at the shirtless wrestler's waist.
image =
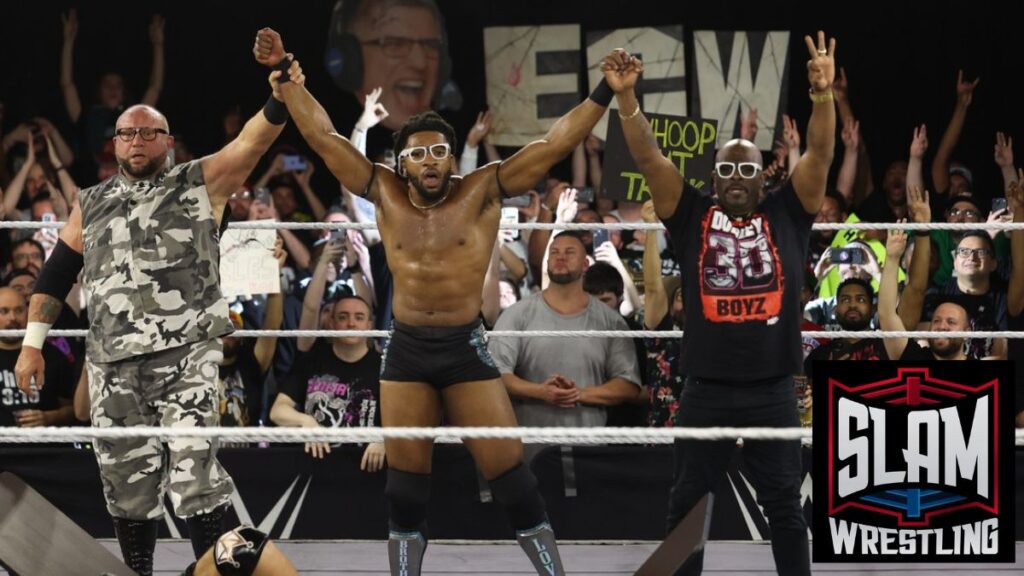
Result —
[[[0,330],[0,337],[25,336],[25,330]],[[50,330],[47,336],[63,336],[66,338],[84,338],[88,330]],[[682,338],[682,330],[489,330],[487,337],[492,338]],[[934,330],[804,330],[804,336],[811,338],[1024,338],[1024,332],[982,331],[975,332],[937,332]],[[368,338],[386,338],[391,335],[388,330],[236,330],[230,334],[241,338],[259,338],[271,336],[275,338],[330,338],[334,336],[352,336]]]

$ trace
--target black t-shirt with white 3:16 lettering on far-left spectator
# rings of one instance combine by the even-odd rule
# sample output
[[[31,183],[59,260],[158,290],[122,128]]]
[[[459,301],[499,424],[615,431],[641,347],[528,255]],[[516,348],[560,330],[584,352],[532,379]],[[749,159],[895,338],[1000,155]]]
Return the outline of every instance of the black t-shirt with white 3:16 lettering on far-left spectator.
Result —
[[[75,397],[78,378],[68,359],[50,344],[43,344],[43,361],[46,362],[46,380],[42,389],[25,394],[17,387],[14,365],[20,349],[0,349],[0,426],[14,426],[14,412],[18,410],[56,410],[60,407],[57,399],[71,400]]]

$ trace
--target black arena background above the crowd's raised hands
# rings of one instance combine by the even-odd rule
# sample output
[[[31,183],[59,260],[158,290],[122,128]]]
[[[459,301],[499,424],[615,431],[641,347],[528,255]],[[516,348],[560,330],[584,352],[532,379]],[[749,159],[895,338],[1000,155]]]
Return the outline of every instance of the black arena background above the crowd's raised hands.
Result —
[[[810,102],[803,70],[803,35],[823,29],[838,39],[837,59],[850,80],[854,112],[861,121],[876,180],[885,166],[905,158],[913,126],[926,123],[931,148],[926,174],[955,101],[957,69],[981,77],[967,125],[953,158],[975,174],[976,192],[987,196],[1001,181],[992,161],[994,133],[1017,136],[1017,163],[1024,151],[1024,41],[1010,4],[987,2],[898,2],[881,4],[797,2],[490,2],[439,0],[446,18],[454,79],[462,88],[461,112],[445,113],[461,136],[485,106],[483,34],[487,26],[579,23],[587,30],[682,24],[686,46],[691,31],[790,30],[792,85],[788,110],[806,126]],[[358,108],[337,89],[323,67],[333,0],[302,2],[5,2],[0,6],[0,99],[6,104],[4,129],[34,115],[51,118],[63,130],[68,121],[58,86],[61,31],[59,14],[79,9],[75,79],[83,105],[93,100],[101,72],[124,74],[137,100],[148,81],[150,16],[166,16],[167,73],[158,107],[172,129],[197,155],[221,143],[221,118],[241,105],[254,114],[266,100],[266,71],[250,52],[256,30],[282,33],[286,48],[303,61],[307,87],[324,104],[336,126],[347,133]],[[584,58],[584,55],[581,55]],[[687,67],[692,70],[691,66]],[[586,78],[581,78],[581,97]],[[692,92],[692,90],[691,90]],[[380,132],[380,133],[378,133]],[[289,128],[282,141],[301,146]],[[371,151],[388,134],[371,133]],[[842,145],[837,137],[838,167]],[[326,170],[317,174],[329,182]],[[323,190],[323,189],[322,189]]]

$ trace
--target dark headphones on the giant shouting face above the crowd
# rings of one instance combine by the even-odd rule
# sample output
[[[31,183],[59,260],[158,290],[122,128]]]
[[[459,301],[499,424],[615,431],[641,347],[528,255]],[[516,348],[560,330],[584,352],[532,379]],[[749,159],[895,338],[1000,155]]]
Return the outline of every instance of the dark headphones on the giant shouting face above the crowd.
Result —
[[[335,85],[349,92],[358,92],[362,88],[365,67],[362,43],[347,30],[347,27],[355,18],[362,2],[368,1],[387,0],[338,0],[331,12],[324,65]],[[434,89],[431,102],[435,109],[459,110],[462,108],[462,93],[452,81],[452,55],[449,54],[447,30],[437,4],[434,3],[434,0],[420,0],[419,2],[395,2],[393,5],[427,8],[436,18],[441,31],[441,51],[438,54],[437,87]]]

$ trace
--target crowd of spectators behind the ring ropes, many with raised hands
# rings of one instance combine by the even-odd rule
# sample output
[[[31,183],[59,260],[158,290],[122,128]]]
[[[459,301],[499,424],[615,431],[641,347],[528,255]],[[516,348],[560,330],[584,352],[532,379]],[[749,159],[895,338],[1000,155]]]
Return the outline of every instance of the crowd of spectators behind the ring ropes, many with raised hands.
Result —
[[[54,23],[56,27],[58,23]],[[154,16],[148,84],[141,98],[117,74],[100,77],[80,95],[73,78],[78,19],[62,17],[60,88],[65,109],[54,118],[9,118],[0,102],[0,217],[5,221],[63,221],[80,189],[117,174],[114,123],[126,106],[159,102],[164,80],[164,22]],[[841,74],[833,87],[842,122],[841,163],[818,222],[1024,221],[1024,172],[1015,167],[1012,135],[992,134],[992,165],[966,166],[956,145],[970,122],[979,79],[963,74],[929,89],[955,98],[954,112],[932,152],[928,127],[908,134],[906,155],[871,170],[861,125],[849,97],[854,79]],[[94,90],[92,88],[95,88]],[[374,128],[387,112],[381,93],[368,94],[353,131]],[[386,98],[385,98],[386,101]],[[482,112],[458,151],[459,170],[500,158],[488,135],[501,110]],[[240,112],[228,112],[211,130],[230,139]],[[783,137],[766,155],[764,173],[779,188],[800,160],[801,119],[783,117]],[[67,126],[63,130],[56,126]],[[173,122],[172,122],[173,125]],[[741,122],[754,139],[756,111]],[[934,128],[934,127],[933,127]],[[384,130],[383,126],[376,128]],[[934,131],[933,131],[934,133]],[[183,138],[177,161],[191,158]],[[295,142],[296,146],[299,142]],[[480,149],[482,149],[482,154]],[[366,151],[364,151],[366,152]],[[456,151],[453,151],[456,152]],[[504,208],[519,222],[657,222],[651,206],[606,198],[601,188],[603,142],[590,136],[570,160],[571,178],[538,182],[524,205]],[[376,160],[393,163],[386,155]],[[317,186],[317,159],[287,143],[268,155],[251,184],[229,200],[231,220],[372,222],[374,206],[335,184]],[[974,174],[997,171],[1001,190],[977,190]],[[317,233],[279,230],[281,292],[252,294],[231,303],[237,328],[386,329],[391,322],[391,278],[380,236],[373,230]],[[25,328],[29,295],[56,242],[54,229],[0,232],[0,319],[4,329]],[[931,329],[1017,330],[1024,323],[1024,232],[885,231],[814,232],[804,286],[807,330]],[[662,231],[506,231],[496,239],[484,283],[481,316],[499,330],[685,329],[680,274]],[[83,328],[88,310],[80,290],[69,296],[55,328]],[[806,373],[815,360],[899,358],[1017,360],[1020,340],[933,338],[925,341],[805,338]],[[366,337],[225,339],[219,374],[222,425],[369,426],[380,424],[382,341]],[[513,400],[520,424],[531,426],[672,426],[685,380],[679,338],[492,338],[490,352]],[[84,347],[77,338],[51,337],[47,385],[31,395],[14,383],[19,337],[0,339],[0,425],[72,425],[88,418],[82,375]],[[50,374],[52,372],[52,375]],[[808,388],[809,389],[809,388]],[[808,392],[809,394],[809,392]],[[810,398],[802,399],[809,407]],[[1015,410],[1024,426],[1024,411]],[[310,445],[323,456],[330,446]],[[383,446],[366,448],[362,467],[384,465]]]

